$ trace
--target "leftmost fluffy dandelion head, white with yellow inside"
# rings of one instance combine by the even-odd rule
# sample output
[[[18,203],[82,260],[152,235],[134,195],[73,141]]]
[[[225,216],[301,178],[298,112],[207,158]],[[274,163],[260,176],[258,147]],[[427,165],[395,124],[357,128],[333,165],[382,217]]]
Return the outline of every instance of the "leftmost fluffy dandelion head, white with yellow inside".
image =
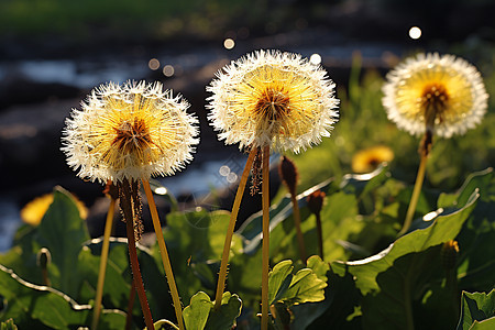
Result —
[[[107,183],[169,175],[193,158],[197,120],[162,84],[95,88],[67,119],[62,150],[78,176]]]

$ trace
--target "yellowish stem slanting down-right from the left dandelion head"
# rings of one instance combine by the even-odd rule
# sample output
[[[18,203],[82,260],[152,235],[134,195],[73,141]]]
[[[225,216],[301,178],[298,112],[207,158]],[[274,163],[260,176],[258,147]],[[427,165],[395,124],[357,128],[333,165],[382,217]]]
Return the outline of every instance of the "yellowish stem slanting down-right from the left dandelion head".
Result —
[[[172,300],[174,301],[175,316],[177,317],[177,322],[180,330],[184,330],[183,320],[183,306],[180,305],[180,297],[177,290],[177,285],[175,284],[174,273],[172,272],[170,258],[168,257],[167,246],[165,245],[165,240],[163,239],[162,226],[160,224],[158,211],[156,210],[155,199],[153,198],[153,193],[147,180],[143,182],[144,193],[146,194],[147,204],[150,206],[150,212],[153,219],[153,228],[155,229],[156,239],[158,240],[160,254],[162,255],[162,263],[165,270],[165,275],[167,277],[168,287],[170,288]],[[152,328],[153,329],[153,328]]]

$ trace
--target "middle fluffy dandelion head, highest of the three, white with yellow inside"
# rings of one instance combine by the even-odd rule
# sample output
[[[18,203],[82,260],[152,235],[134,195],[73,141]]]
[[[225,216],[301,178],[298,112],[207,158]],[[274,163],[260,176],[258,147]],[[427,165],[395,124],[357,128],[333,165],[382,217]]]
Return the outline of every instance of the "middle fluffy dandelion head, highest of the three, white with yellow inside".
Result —
[[[329,136],[338,121],[334,84],[300,55],[257,51],[217,73],[207,87],[219,138],[240,147],[300,148]]]

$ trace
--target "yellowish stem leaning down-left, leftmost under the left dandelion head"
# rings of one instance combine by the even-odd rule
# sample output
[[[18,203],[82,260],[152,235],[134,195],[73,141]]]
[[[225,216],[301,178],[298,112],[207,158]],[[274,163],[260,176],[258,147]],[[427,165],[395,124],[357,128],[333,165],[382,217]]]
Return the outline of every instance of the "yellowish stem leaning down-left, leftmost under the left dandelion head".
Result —
[[[100,271],[98,273],[97,293],[95,298],[95,311],[92,314],[91,329],[98,329],[98,321],[101,312],[101,299],[103,297],[105,274],[107,272],[108,250],[110,245],[110,233],[112,231],[113,213],[116,211],[116,199],[110,199],[108,207],[107,221],[105,223],[103,245],[101,246]]]

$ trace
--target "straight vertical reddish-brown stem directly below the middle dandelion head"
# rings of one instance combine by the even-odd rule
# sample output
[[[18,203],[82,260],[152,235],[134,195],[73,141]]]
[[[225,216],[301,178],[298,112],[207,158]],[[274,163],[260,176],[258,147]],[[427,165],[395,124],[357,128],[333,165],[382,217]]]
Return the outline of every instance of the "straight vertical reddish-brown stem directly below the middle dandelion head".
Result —
[[[262,245],[262,319],[261,329],[268,329],[268,272],[270,272],[270,145],[263,150],[263,245]]]

